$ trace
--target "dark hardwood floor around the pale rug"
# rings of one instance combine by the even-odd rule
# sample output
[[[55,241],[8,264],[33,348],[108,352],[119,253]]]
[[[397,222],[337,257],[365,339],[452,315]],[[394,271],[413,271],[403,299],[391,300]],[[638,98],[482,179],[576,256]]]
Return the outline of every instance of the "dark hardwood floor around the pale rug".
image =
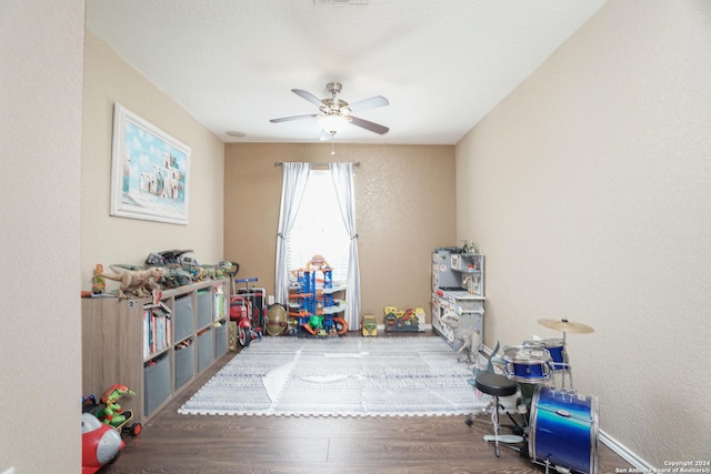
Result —
[[[431,333],[430,333],[431,334]],[[219,371],[229,352],[158,412],[103,474],[136,473],[544,473],[545,468],[482,440],[489,415],[276,417],[181,415],[178,409]],[[630,464],[599,443],[599,472]]]

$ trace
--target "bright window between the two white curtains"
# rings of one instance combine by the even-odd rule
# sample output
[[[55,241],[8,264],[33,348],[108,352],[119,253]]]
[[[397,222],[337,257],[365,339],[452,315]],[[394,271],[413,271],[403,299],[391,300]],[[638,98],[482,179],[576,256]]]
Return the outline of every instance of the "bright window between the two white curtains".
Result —
[[[287,236],[289,271],[304,268],[313,255],[323,255],[333,269],[333,281],[344,282],[349,243],[331,173],[311,170],[299,214]]]

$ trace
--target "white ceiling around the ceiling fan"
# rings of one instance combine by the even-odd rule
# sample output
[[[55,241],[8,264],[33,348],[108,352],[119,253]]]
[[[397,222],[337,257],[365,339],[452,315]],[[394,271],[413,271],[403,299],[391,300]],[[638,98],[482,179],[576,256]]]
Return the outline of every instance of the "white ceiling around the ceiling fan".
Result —
[[[348,0],[331,0],[342,3]],[[87,29],[226,142],[313,142],[291,92],[384,95],[337,142],[454,144],[605,0],[87,0]],[[354,113],[356,114],[356,113]],[[226,131],[240,131],[233,138]]]

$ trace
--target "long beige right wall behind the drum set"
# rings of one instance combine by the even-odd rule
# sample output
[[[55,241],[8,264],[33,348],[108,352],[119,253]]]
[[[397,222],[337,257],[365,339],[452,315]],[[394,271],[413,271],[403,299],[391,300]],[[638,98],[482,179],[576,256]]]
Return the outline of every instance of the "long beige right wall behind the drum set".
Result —
[[[708,1],[611,1],[457,147],[487,343],[592,325],[575,387],[657,467],[710,452],[710,44]]]

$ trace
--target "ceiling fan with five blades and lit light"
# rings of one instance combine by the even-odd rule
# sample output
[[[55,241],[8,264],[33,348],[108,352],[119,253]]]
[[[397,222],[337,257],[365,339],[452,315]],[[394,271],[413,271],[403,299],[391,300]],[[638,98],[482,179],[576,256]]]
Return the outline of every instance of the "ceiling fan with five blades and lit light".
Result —
[[[388,99],[382,95],[375,95],[370,99],[359,100],[358,102],[349,104],[344,100],[338,98],[338,94],[341,92],[340,82],[329,82],[328,84],[326,84],[326,89],[331,94],[331,97],[326,99],[319,99],[311,92],[307,92],[301,89],[291,90],[291,92],[317,105],[320,113],[282,117],[280,119],[271,119],[270,122],[279,123],[288,122],[291,120],[317,119],[319,125],[321,125],[321,129],[323,130],[323,132],[321,133],[321,140],[332,138],[337,132],[341,131],[343,127],[349,123],[356,127],[360,127],[361,129],[379,133],[381,135],[388,133],[388,130],[390,130],[388,127],[351,115],[351,112],[360,112],[363,110],[388,105],[390,103],[388,102]]]

